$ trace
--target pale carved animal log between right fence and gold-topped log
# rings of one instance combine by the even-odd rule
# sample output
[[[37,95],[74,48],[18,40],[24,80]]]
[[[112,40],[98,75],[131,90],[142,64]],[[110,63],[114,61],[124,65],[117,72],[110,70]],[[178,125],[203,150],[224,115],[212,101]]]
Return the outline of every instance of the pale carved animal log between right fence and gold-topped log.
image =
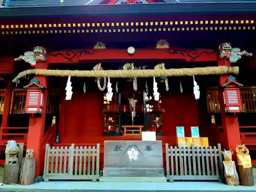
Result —
[[[224,156],[223,165],[227,185],[239,185],[239,177],[236,169],[236,163],[232,161],[233,152],[231,152],[231,150],[224,150],[222,154]]]

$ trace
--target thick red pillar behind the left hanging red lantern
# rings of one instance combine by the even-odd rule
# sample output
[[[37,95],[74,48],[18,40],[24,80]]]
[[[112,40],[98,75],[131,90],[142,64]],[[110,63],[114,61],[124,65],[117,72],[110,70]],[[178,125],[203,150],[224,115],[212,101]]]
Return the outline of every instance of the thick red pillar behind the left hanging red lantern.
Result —
[[[48,69],[48,62],[41,62],[36,64],[37,69]],[[44,162],[44,155],[41,152],[42,146],[44,143],[42,143],[44,139],[44,132],[45,132],[45,119],[46,119],[46,104],[47,104],[47,98],[48,98],[48,91],[47,91],[47,77],[45,76],[36,76],[36,78],[39,80],[40,85],[45,87],[45,94],[42,101],[42,113],[40,116],[30,116],[29,121],[29,133],[28,133],[28,140],[27,140],[27,149],[33,149],[34,150],[34,157],[36,158],[36,167],[35,167],[35,177],[40,176],[40,172],[42,172],[43,165],[42,162]]]

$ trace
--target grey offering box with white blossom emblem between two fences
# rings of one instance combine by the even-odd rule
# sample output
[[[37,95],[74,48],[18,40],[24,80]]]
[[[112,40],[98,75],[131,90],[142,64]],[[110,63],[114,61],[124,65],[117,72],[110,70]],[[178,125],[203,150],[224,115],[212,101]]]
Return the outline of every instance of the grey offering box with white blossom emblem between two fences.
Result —
[[[103,177],[163,178],[162,141],[105,141]]]

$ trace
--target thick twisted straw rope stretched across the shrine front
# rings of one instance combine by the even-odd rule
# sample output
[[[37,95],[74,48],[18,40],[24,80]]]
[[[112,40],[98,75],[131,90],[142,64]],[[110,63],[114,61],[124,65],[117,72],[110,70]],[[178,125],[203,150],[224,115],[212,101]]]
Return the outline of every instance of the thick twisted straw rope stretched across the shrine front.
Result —
[[[165,70],[101,70],[101,71],[81,71],[81,70],[46,70],[31,69],[18,74],[12,82],[26,75],[60,76],[60,77],[110,77],[110,78],[135,78],[135,77],[169,77],[169,76],[193,76],[193,75],[224,75],[238,74],[239,67],[205,67],[205,68],[182,68]]]

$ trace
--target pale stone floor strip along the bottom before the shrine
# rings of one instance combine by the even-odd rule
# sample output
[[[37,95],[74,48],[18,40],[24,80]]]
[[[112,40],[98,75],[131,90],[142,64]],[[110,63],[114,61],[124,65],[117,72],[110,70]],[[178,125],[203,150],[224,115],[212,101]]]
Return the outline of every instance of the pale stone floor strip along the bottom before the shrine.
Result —
[[[254,181],[256,184],[256,180]],[[173,183],[146,183],[146,182],[83,182],[83,181],[50,181],[33,185],[3,185],[0,192],[27,191],[27,192],[78,192],[78,191],[102,191],[102,192],[167,192],[167,191],[256,191],[256,185],[252,187],[228,186],[218,182],[173,182]]]

